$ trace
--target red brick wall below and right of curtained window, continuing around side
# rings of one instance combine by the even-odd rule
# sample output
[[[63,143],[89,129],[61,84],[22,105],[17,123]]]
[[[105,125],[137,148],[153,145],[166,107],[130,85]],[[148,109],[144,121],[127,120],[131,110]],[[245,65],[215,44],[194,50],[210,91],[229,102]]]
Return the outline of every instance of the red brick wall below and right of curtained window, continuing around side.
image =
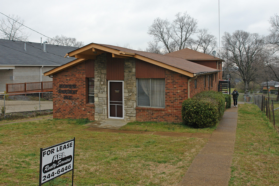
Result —
[[[190,81],[190,97],[196,93],[208,90],[208,74],[206,74],[206,87],[204,75],[198,76],[197,88],[194,88],[194,80]],[[217,91],[218,80],[214,74],[213,87],[210,90]],[[163,121],[182,122],[182,102],[188,98],[187,76],[166,69],[165,76],[165,108],[136,107],[137,121]]]

